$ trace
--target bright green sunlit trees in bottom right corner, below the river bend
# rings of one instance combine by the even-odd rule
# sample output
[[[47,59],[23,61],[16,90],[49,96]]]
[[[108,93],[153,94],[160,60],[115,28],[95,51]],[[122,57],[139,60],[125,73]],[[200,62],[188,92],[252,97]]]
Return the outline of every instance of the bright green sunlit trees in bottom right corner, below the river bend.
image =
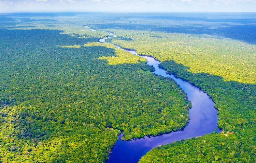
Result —
[[[157,162],[255,162],[255,147],[247,146],[234,134],[207,134],[200,138],[153,148],[140,163]]]

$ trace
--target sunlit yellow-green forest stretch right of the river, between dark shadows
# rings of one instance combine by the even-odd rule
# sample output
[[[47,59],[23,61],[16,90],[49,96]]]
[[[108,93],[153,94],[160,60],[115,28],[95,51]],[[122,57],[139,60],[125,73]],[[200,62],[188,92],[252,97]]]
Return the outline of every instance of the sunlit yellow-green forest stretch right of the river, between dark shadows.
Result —
[[[255,45],[209,35],[113,31],[118,36],[131,38],[132,41],[118,38],[107,41],[136,49],[139,54],[153,55],[161,61],[174,60],[189,67],[189,71],[193,73],[208,73],[221,76],[226,81],[256,84]]]

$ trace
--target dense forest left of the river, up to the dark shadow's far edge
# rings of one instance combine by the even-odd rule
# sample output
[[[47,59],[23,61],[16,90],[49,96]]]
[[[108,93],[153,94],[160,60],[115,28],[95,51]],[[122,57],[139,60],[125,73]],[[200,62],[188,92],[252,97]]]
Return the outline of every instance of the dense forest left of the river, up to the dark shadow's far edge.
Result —
[[[143,58],[61,32],[0,30],[1,162],[104,162],[118,130],[187,124],[186,95]]]

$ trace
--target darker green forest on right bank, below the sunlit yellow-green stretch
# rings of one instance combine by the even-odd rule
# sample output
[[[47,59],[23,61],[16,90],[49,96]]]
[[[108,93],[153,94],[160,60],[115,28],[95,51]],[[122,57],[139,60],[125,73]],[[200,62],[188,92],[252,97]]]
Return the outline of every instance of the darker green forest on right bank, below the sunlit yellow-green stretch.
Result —
[[[161,66],[207,91],[216,102],[218,126],[224,131],[158,147],[140,162],[255,162],[256,85],[191,73],[174,61],[165,61]]]

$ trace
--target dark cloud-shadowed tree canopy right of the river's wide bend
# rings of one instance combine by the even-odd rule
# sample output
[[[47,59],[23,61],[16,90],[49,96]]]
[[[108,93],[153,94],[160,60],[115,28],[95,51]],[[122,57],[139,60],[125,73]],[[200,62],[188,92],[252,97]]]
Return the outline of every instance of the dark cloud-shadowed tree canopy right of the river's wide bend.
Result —
[[[192,73],[188,71],[189,67],[177,64],[173,60],[163,61],[160,67],[167,69],[169,74],[188,80],[209,94],[219,110],[220,128],[237,134],[244,132],[244,136],[250,130],[255,130],[255,84],[224,81],[220,76],[207,73]]]

